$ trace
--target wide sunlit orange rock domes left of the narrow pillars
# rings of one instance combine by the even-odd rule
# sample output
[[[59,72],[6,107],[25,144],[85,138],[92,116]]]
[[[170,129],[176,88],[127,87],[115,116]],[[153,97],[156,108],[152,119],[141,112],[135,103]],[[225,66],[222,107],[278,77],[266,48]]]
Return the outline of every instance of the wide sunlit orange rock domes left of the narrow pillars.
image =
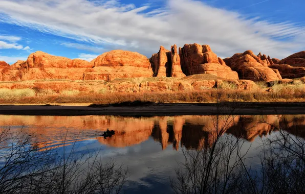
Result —
[[[91,62],[52,56],[43,52],[31,54],[26,61],[13,65],[1,63],[0,81],[40,79],[106,80],[150,77],[147,57],[128,51],[104,53]]]

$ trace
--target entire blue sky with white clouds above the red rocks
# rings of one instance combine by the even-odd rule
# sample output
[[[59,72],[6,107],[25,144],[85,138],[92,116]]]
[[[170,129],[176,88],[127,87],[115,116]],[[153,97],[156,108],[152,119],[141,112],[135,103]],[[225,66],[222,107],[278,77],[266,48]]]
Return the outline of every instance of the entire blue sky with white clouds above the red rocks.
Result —
[[[43,51],[92,60],[115,49],[210,44],[219,57],[305,50],[303,0],[0,0],[0,61]]]

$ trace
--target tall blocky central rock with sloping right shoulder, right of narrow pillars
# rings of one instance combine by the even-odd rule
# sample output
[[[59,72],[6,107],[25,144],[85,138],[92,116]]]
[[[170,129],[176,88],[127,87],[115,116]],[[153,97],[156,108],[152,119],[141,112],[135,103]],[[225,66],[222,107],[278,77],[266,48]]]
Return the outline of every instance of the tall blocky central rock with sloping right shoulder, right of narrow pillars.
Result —
[[[185,44],[179,48],[182,71],[185,75],[211,74],[238,80],[238,75],[212,52],[209,45]]]

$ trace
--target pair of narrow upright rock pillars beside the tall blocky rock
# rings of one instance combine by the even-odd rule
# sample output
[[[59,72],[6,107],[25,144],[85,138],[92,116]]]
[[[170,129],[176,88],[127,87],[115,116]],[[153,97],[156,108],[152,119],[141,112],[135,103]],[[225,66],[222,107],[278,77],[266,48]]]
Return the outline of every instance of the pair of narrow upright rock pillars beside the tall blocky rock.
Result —
[[[185,77],[181,69],[180,56],[176,44],[171,46],[170,51],[160,46],[159,53],[151,56],[150,63],[153,67],[154,77]]]

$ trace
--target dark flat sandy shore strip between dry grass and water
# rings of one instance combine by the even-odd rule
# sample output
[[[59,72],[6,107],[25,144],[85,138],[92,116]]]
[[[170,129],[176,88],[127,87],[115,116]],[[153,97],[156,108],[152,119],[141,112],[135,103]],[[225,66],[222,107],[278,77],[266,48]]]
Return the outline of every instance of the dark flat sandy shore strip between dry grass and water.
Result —
[[[260,114],[305,114],[305,103],[223,103],[223,104],[164,104],[147,106],[87,105],[41,106],[0,105],[0,114],[12,115],[121,115],[121,116],[163,116],[163,115],[260,115]]]

